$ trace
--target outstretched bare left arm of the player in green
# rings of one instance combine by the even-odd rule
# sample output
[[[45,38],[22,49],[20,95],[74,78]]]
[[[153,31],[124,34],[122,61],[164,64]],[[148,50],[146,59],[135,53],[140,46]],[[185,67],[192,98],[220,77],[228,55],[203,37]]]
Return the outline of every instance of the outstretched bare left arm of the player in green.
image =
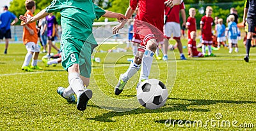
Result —
[[[26,25],[26,24],[30,24],[32,22],[36,22],[36,20],[40,20],[41,18],[44,18],[47,15],[49,15],[49,13],[46,13],[45,10],[42,10],[38,14],[36,14],[34,17],[31,17],[30,15],[28,15],[27,17],[24,15],[20,15],[19,19],[24,22],[21,25]]]

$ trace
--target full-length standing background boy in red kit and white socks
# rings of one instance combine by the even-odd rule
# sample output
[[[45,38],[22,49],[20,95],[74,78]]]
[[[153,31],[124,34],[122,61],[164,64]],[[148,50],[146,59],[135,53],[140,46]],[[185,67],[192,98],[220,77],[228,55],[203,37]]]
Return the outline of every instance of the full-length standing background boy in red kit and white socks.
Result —
[[[215,55],[212,53],[211,45],[212,45],[212,24],[213,18],[212,15],[212,8],[211,6],[207,6],[205,10],[205,16],[202,17],[200,21],[200,29],[202,32],[202,53],[205,57],[211,56],[214,57]],[[208,55],[205,54],[205,46],[208,46]]]

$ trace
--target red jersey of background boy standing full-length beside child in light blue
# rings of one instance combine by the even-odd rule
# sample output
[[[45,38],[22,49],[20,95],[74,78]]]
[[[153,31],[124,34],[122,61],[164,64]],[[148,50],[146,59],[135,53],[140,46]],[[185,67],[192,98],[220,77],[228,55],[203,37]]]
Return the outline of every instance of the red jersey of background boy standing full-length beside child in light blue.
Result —
[[[200,24],[203,25],[202,34],[211,36],[212,35],[213,18],[204,16],[204,17],[202,17]]]

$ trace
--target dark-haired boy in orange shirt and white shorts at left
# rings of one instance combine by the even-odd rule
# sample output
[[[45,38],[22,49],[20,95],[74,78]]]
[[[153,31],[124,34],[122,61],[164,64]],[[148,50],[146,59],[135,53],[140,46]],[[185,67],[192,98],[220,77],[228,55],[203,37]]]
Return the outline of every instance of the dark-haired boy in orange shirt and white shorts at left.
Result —
[[[33,13],[36,10],[35,1],[26,0],[26,13],[24,16],[33,16]],[[24,24],[22,22],[21,24]],[[33,22],[28,25],[23,26],[23,44],[26,45],[28,53],[26,54],[24,63],[21,67],[25,71],[33,71],[32,69],[42,69],[37,66],[37,59],[40,52],[40,46],[37,44],[37,31],[36,31],[36,22]],[[29,62],[33,56],[31,66],[29,67]]]

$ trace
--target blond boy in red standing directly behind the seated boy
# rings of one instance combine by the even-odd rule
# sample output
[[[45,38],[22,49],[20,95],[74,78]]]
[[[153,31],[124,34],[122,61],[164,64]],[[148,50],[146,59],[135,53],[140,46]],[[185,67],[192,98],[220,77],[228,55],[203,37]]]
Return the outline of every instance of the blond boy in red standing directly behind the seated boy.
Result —
[[[188,29],[188,39],[190,39],[190,32],[195,31],[196,32],[196,10],[195,8],[189,8],[189,17],[186,23],[186,27]]]

